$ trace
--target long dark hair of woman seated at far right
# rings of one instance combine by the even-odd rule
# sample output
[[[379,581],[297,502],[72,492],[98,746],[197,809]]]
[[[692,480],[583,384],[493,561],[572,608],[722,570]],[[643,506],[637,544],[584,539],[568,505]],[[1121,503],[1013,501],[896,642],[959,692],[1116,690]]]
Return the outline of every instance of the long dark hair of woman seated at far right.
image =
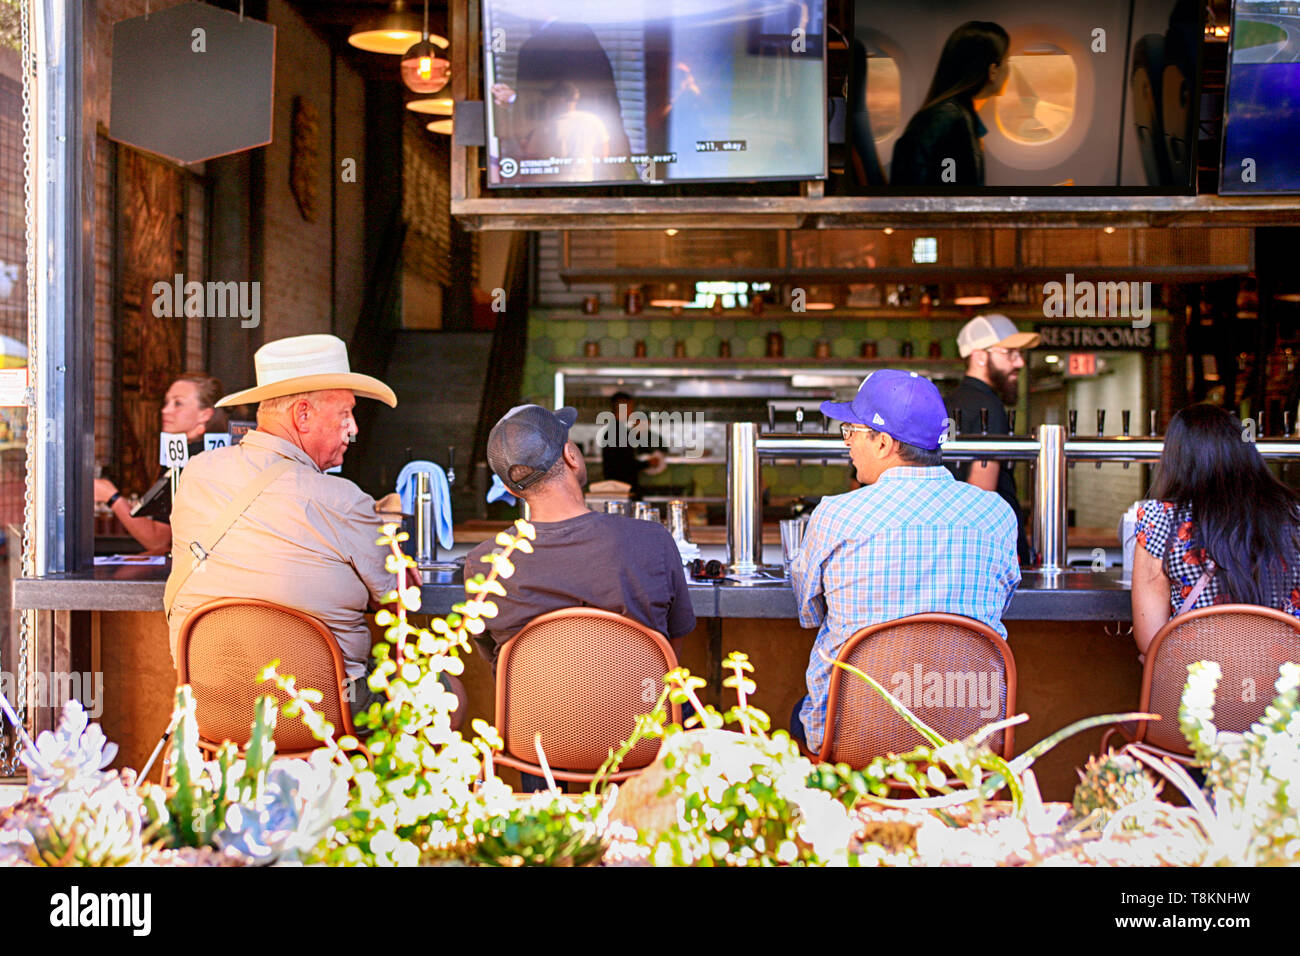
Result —
[[[1191,507],[1193,540],[1228,601],[1280,607],[1300,579],[1300,497],[1278,481],[1242,421],[1213,405],[1169,423],[1153,498]],[[1165,576],[1173,579],[1169,548]]]

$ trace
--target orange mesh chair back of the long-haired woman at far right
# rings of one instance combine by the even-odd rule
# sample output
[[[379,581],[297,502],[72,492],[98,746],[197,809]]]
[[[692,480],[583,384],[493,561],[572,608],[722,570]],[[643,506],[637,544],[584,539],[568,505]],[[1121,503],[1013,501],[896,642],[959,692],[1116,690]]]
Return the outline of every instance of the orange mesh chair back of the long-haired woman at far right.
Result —
[[[1139,722],[1134,743],[1191,756],[1178,728],[1178,706],[1187,666],[1196,661],[1217,661],[1223,671],[1214,702],[1216,726],[1247,731],[1273,702],[1278,666],[1300,662],[1300,619],[1245,604],[1200,607],[1171,619],[1147,648],[1138,708],[1161,719]]]

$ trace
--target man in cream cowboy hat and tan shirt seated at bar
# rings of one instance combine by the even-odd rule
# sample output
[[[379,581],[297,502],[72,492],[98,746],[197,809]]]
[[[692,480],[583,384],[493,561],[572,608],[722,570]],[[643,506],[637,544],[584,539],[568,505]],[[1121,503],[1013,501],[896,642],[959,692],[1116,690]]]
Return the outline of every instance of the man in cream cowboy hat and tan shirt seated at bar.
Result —
[[[239,445],[196,455],[181,473],[164,601],[172,656],[186,615],[214,598],[295,607],[338,640],[358,711],[372,698],[363,679],[370,656],[364,614],[394,579],[376,545],[382,520],[374,499],[325,470],[342,464],[356,437],[358,395],[390,407],[398,399],[377,378],[350,371],[347,347],[334,336],[268,342],[254,364],[257,385],[217,406],[256,402],[257,428]]]

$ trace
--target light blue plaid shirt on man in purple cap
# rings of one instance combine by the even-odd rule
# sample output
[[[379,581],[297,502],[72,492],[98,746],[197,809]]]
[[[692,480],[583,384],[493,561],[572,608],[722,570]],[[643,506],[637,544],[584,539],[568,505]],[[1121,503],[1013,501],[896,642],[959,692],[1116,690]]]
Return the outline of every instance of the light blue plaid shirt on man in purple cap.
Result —
[[[867,624],[946,611],[1002,637],[1002,613],[1020,583],[1015,515],[993,492],[941,467],[897,467],[875,484],[822,499],[790,576],[800,623],[820,631],[800,710],[809,748],[822,745],[829,658]]]

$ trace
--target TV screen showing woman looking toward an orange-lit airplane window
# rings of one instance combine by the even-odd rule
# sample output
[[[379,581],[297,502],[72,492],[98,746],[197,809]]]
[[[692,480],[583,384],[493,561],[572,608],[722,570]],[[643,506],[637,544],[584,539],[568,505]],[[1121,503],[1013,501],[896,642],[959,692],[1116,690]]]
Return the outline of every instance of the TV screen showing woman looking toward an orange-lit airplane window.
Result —
[[[859,191],[1195,187],[1195,0],[855,0],[853,10]]]

